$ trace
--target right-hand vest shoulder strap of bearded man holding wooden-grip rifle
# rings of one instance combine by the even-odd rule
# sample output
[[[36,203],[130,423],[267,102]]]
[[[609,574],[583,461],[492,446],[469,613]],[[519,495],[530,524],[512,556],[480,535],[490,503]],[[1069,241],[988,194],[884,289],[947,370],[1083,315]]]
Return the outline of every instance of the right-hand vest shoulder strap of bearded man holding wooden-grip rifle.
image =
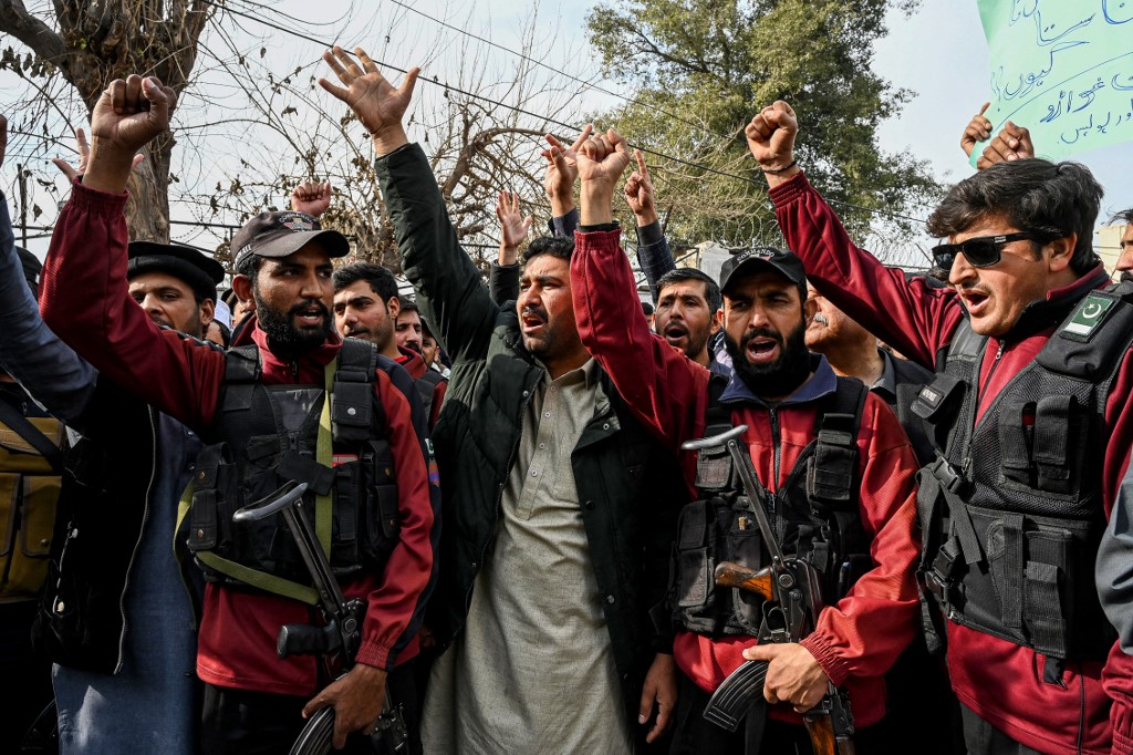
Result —
[[[818,504],[844,504],[854,499],[858,431],[869,391],[855,378],[837,380],[837,390],[818,415],[812,473],[807,476],[807,494]]]

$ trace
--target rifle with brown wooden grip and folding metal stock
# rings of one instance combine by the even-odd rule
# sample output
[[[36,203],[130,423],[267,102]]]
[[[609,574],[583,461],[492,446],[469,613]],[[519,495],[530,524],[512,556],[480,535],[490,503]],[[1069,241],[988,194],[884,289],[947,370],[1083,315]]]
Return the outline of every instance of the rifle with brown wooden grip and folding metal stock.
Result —
[[[747,493],[748,508],[759,526],[772,562],[757,571],[723,561],[716,566],[716,584],[764,597],[759,642],[796,643],[813,631],[815,621],[823,609],[821,576],[806,561],[783,555],[767,518],[767,491],[756,478],[751,457],[739,444],[739,439],[747,430],[747,425],[740,425],[718,435],[687,441],[681,448],[698,451],[725,447],[731,455]],[[705,719],[729,731],[735,731],[751,699],[761,696],[766,676],[766,661],[744,661],[713,694],[705,709]],[[816,755],[854,755],[850,698],[833,682],[821,702],[802,714],[802,720]]]

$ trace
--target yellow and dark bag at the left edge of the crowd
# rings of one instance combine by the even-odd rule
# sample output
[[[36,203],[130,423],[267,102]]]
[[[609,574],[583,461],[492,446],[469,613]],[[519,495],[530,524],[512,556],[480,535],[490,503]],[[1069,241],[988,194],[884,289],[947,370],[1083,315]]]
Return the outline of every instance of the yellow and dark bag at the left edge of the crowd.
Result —
[[[59,499],[59,472],[36,444],[59,448],[63,425],[52,417],[24,419],[45,439],[33,442],[0,424],[0,603],[39,597]]]

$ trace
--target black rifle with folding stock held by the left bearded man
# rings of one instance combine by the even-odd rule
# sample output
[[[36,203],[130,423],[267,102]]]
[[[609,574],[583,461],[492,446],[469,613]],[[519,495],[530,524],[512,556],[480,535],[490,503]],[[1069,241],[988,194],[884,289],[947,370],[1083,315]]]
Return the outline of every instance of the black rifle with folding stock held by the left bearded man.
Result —
[[[289,623],[280,627],[275,652],[280,658],[296,654],[332,655],[341,653],[342,675],[355,663],[361,643],[361,623],[366,616],[366,601],[342,594],[331,563],[318,544],[318,537],[303,514],[303,494],[307,483],[289,482],[271,495],[249,503],[232,515],[233,521],[257,521],[273,514],[280,514],[310,571],[310,579],[318,593],[320,608],[326,623],[313,627],[305,623]],[[339,677],[341,678],[341,676]],[[299,738],[291,746],[290,755],[325,755],[331,752],[334,735],[334,707],[320,710],[307,720]],[[377,724],[369,735],[375,753],[408,752],[408,732],[401,705],[393,705],[390,690],[385,690],[385,706],[377,718]]]

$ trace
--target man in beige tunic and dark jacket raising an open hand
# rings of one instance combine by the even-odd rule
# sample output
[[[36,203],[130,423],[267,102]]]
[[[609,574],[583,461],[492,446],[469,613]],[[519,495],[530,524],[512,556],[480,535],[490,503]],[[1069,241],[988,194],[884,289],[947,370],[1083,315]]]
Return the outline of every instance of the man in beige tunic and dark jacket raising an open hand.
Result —
[[[402,270],[452,358],[426,748],[636,752],[675,704],[667,627],[650,618],[681,495],[672,458],[579,341],[571,239],[531,241],[518,300],[496,305],[401,122],[418,69],[394,88],[355,52],[325,53],[342,86],[320,84],[373,135]]]

